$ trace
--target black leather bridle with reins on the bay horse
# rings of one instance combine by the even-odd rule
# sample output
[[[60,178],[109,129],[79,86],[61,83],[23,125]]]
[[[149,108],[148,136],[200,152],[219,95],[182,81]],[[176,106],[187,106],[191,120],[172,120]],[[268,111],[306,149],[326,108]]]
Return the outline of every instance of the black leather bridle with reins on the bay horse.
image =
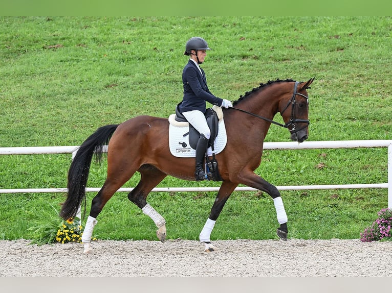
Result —
[[[274,120],[268,119],[268,118],[263,117],[263,116],[256,115],[256,114],[254,114],[254,113],[248,112],[248,111],[243,110],[243,109],[239,109],[239,108],[235,108],[235,107],[231,107],[231,109],[235,109],[235,110],[238,110],[238,111],[247,113],[247,114],[249,114],[249,115],[255,116],[255,117],[257,117],[257,118],[266,120],[266,121],[268,121],[268,122],[270,122],[270,123],[272,123],[272,124],[275,124],[275,125],[277,125],[277,126],[287,128],[291,133],[296,133],[296,132],[298,132],[298,131],[300,131],[300,130],[302,130],[302,129],[304,129],[304,128],[307,128],[307,127],[309,126],[309,124],[310,124],[310,122],[309,122],[308,119],[297,119],[297,118],[295,117],[295,98],[296,98],[296,96],[297,96],[297,95],[303,96],[303,97],[305,97],[306,100],[308,101],[308,97],[307,97],[306,95],[301,94],[301,93],[299,93],[299,92],[297,91],[298,84],[299,84],[299,82],[296,81],[295,84],[294,84],[293,95],[292,95],[292,97],[291,97],[289,103],[287,104],[287,106],[285,107],[285,109],[283,109],[283,110],[280,112],[280,115],[283,115],[283,113],[287,110],[287,108],[288,108],[288,107],[290,106],[290,104],[291,104],[291,116],[290,116],[290,120],[289,120],[286,124],[278,123],[278,122],[276,122],[276,121],[274,121]],[[229,108],[229,109],[230,109],[230,108]],[[305,124],[307,124],[307,126],[304,126],[304,127],[300,128],[300,129],[296,130],[296,127],[295,127],[294,123],[305,123]]]

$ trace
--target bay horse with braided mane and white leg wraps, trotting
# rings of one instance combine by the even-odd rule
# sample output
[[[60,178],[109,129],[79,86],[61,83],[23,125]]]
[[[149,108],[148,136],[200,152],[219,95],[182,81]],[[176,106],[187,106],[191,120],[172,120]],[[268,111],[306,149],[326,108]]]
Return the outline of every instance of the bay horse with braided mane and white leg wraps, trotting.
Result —
[[[309,135],[307,82],[291,79],[260,83],[258,88],[241,95],[233,107],[223,108],[227,144],[216,155],[222,184],[217,192],[210,215],[199,238],[205,252],[214,251],[210,234],[230,194],[238,184],[268,193],[273,199],[279,228],[276,233],[287,240],[287,214],[280,192],[271,183],[254,173],[263,155],[263,142],[271,124],[285,127],[291,140],[303,142]],[[273,121],[280,113],[285,124]],[[128,199],[153,219],[158,227],[157,237],[164,242],[166,221],[151,207],[146,198],[166,176],[194,181],[194,158],[178,158],[169,152],[169,123],[167,118],[148,115],[130,118],[118,125],[98,128],[79,147],[68,171],[67,199],[61,205],[60,217],[75,217],[82,203],[86,207],[85,187],[93,155],[101,159],[107,145],[107,177],[91,203],[91,210],[82,235],[83,253],[92,252],[91,236],[97,216],[113,194],[136,172],[138,185],[128,193]]]

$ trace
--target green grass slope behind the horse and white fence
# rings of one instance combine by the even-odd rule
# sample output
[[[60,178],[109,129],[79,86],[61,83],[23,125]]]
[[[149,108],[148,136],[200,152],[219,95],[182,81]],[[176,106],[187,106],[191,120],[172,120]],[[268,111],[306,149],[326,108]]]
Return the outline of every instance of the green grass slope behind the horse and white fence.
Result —
[[[0,147],[80,145],[98,127],[141,114],[168,117],[182,98],[186,40],[213,48],[203,68],[213,93],[237,100],[260,82],[316,77],[310,141],[391,139],[391,17],[1,17]],[[276,121],[281,122],[277,115]],[[266,141],[288,141],[271,126]],[[71,155],[0,156],[0,188],[66,187]],[[322,166],[322,167],[320,167]],[[106,164],[93,164],[100,187]],[[256,171],[274,185],[387,182],[386,149],[266,150]],[[124,187],[134,187],[135,175]],[[219,186],[171,177],[158,187]],[[282,191],[295,238],[359,238],[387,206],[386,189]],[[95,193],[88,193],[88,209]],[[154,192],[168,238],[198,239],[214,192]],[[0,239],[31,239],[61,193],[0,194]],[[52,207],[53,206],[53,207]],[[126,193],[98,218],[100,239],[155,240]],[[275,238],[262,192],[234,192],[211,239]]]

